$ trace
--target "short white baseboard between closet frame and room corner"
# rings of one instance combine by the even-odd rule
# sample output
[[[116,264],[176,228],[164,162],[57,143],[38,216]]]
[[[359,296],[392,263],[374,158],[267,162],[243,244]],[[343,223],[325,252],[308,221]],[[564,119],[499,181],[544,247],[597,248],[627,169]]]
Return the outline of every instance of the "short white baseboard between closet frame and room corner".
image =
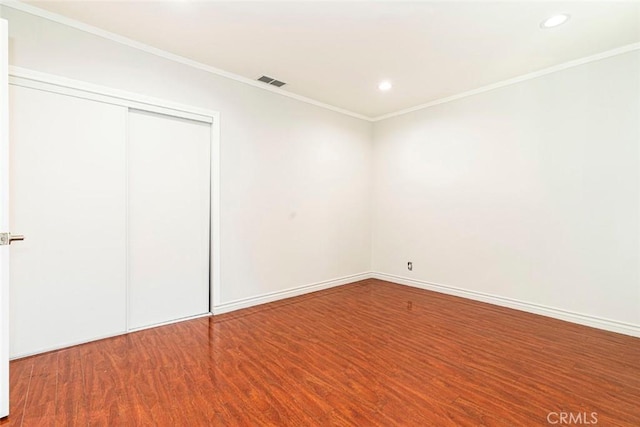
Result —
[[[231,302],[217,304],[213,307],[213,314],[229,313],[231,311],[240,310],[242,308],[253,307],[268,302],[279,301],[311,292],[321,291],[323,289],[334,288],[336,286],[346,285],[348,283],[358,282],[360,280],[370,279],[371,273],[359,273],[350,276],[340,277],[338,279],[325,280],[323,282],[312,283],[309,285],[298,286],[295,288],[285,289],[283,291],[269,292],[255,297],[242,298]]]

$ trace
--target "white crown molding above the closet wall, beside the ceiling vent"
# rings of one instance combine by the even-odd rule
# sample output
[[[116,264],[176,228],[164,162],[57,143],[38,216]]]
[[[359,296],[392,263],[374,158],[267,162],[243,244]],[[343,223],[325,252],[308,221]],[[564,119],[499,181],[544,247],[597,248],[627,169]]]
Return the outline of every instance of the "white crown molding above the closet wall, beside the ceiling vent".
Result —
[[[75,28],[77,30],[80,31],[84,31],[86,33],[89,34],[93,34],[96,35],[98,37],[102,37],[104,39],[107,40],[111,40],[113,42],[134,48],[134,49],[138,49],[141,50],[143,52],[146,53],[150,53],[152,55],[156,55],[159,56],[161,58],[164,59],[168,59],[170,61],[174,61],[174,62],[178,62],[180,64],[183,65],[187,65],[189,67],[193,67],[196,68],[198,70],[202,70],[202,71],[207,71],[211,74],[215,74],[218,75],[220,77],[225,77],[231,80],[235,80],[237,82],[240,83],[244,83],[253,87],[256,87],[258,89],[262,89],[262,90],[266,90],[272,93],[276,93],[278,95],[282,95],[282,96],[286,96],[288,98],[293,98],[297,101],[301,101],[301,102],[305,102],[307,104],[311,104],[311,105],[315,105],[316,107],[321,107],[321,108],[325,108],[327,110],[331,110],[331,111],[335,111],[337,113],[341,113],[341,114],[345,114],[347,116],[351,116],[351,117],[355,117],[357,119],[361,119],[361,120],[366,120],[366,121],[371,121],[370,117],[364,116],[362,114],[358,114],[358,113],[354,113],[352,111],[349,110],[345,110],[344,108],[340,108],[340,107],[336,107],[330,104],[326,104],[324,102],[320,102],[320,101],[316,101],[315,99],[311,99],[311,98],[307,98],[305,96],[302,95],[297,95],[291,92],[286,92],[284,89],[280,89],[277,88],[275,86],[272,85],[267,85],[261,82],[258,82],[257,80],[251,80],[249,78],[243,77],[243,76],[239,76],[237,74],[234,73],[230,73],[228,71],[224,71],[221,70],[219,68],[215,68],[212,67],[210,65],[206,65],[203,64],[201,62],[198,61],[194,61],[192,59],[189,58],[185,58],[184,56],[180,56],[180,55],[176,55],[174,53],[170,53],[167,51],[164,51],[162,49],[158,49],[156,47],[153,46],[149,46],[147,44],[144,43],[140,43],[138,41],[132,40],[130,38],[127,37],[123,37],[120,36],[118,34],[109,32],[109,31],[105,31],[101,28],[98,27],[94,27],[92,25],[89,24],[85,24],[83,22],[80,21],[76,21],[75,19],[70,19],[67,18],[65,16],[62,15],[58,15],[57,13],[53,13],[53,12],[49,12],[47,10],[44,9],[40,9],[38,7],[35,6],[31,6],[16,0],[1,0],[0,4],[6,6],[6,7],[10,7],[12,9],[16,9],[22,12],[26,12],[28,14],[31,15],[35,15],[35,16],[39,16],[41,18],[47,19],[49,21],[53,21],[53,22],[57,22],[59,24],[63,24],[66,25],[68,27],[72,27]]]

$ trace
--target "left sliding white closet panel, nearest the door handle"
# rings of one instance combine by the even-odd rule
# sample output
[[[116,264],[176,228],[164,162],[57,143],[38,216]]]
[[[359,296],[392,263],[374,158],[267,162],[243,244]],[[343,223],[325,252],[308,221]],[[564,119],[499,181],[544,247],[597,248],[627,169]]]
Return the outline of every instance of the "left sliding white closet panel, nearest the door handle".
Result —
[[[126,330],[127,109],[11,86],[11,354]]]

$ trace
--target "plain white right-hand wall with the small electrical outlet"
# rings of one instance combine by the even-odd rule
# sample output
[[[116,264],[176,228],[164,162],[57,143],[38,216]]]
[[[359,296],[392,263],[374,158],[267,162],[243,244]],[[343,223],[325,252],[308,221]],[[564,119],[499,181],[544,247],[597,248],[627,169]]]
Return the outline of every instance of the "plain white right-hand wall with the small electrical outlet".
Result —
[[[634,51],[375,123],[374,271],[640,331],[639,100]]]

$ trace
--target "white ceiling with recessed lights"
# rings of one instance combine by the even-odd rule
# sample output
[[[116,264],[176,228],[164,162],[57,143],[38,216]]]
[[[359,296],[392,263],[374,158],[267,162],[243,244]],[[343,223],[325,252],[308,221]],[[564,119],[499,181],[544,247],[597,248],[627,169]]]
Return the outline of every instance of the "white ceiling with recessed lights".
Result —
[[[640,42],[639,2],[28,3],[368,117]]]

